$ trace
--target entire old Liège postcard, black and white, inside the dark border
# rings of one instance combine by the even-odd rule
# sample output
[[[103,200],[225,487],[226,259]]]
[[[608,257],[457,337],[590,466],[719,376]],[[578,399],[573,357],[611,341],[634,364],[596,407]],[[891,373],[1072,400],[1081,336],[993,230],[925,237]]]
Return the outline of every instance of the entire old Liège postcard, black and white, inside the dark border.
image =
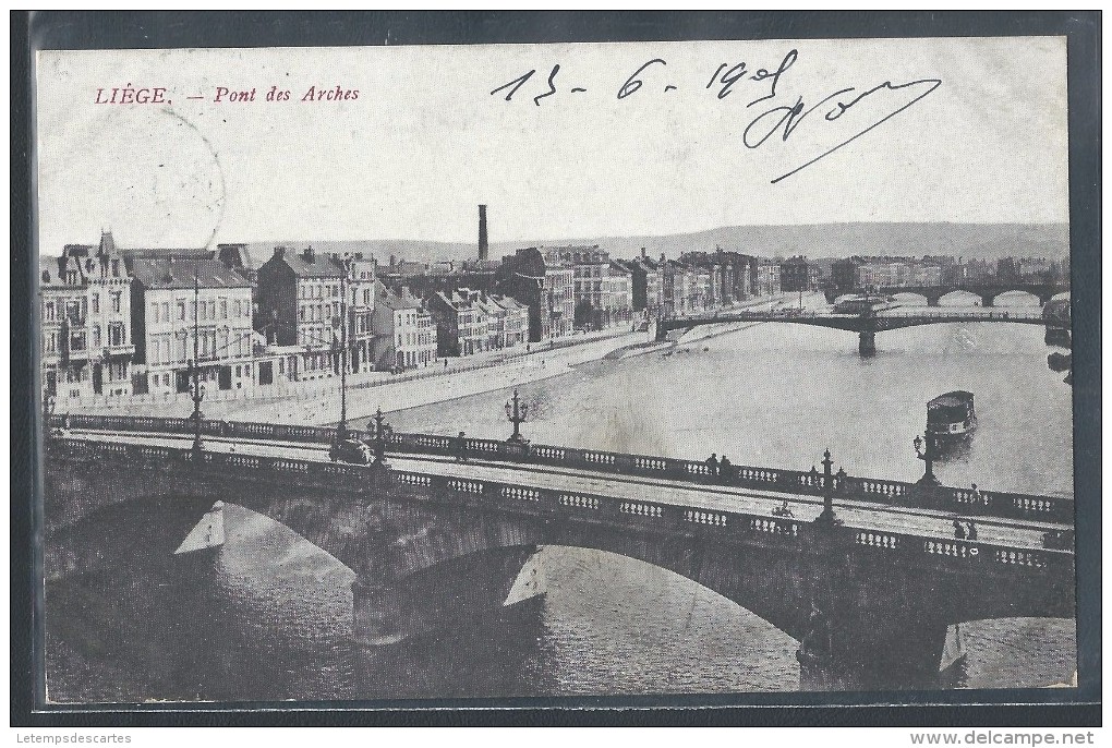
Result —
[[[1076,688],[1066,51],[39,51],[46,705]]]

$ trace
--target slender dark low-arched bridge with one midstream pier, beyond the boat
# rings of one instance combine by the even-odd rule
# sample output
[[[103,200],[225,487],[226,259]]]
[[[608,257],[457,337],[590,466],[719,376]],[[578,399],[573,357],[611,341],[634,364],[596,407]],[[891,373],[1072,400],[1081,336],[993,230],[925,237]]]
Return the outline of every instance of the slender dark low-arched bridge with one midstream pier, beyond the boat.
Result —
[[[876,352],[877,332],[904,327],[950,322],[1009,322],[1013,325],[1044,325],[1052,328],[1060,326],[1056,319],[1045,316],[1041,309],[1023,308],[1013,308],[1006,311],[973,309],[942,311],[909,307],[862,315],[780,309],[667,317],[656,322],[656,340],[659,342],[667,340],[668,333],[673,330],[689,330],[699,325],[721,325],[723,322],[790,322],[847,330],[857,333],[858,350],[862,356],[872,356]]]

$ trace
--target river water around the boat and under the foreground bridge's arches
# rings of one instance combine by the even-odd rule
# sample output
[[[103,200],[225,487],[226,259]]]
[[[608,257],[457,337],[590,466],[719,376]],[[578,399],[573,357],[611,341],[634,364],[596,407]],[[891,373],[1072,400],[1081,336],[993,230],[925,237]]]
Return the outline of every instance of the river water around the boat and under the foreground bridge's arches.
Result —
[[[967,303],[961,298],[944,303]],[[999,303],[1027,300],[1002,298]],[[671,355],[597,361],[523,385],[537,442],[810,469],[830,447],[852,475],[914,480],[912,438],[925,402],[974,392],[965,453],[936,466],[949,485],[1072,492],[1071,392],[1046,366],[1043,329],[941,325],[856,336],[756,325]],[[508,436],[507,390],[390,415],[404,431]],[[798,688],[797,642],[721,596],[663,569],[574,548],[544,548],[548,595],[504,619],[413,645],[390,682],[350,644],[353,574],[285,527],[234,506],[228,542],[192,564],[145,553],[149,527],[89,537],[130,543],[133,564],[48,585],[52,700],[359,699],[383,696],[725,694]],[[1065,682],[1074,621],[1004,619],[964,627],[954,684]],[[408,659],[407,659],[408,658]],[[395,664],[396,665],[396,664]]]

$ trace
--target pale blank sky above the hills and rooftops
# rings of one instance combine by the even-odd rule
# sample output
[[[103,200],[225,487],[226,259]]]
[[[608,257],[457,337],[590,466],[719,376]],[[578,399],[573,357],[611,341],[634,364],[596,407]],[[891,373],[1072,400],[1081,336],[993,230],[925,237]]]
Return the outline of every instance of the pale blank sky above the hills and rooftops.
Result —
[[[1064,38],[43,51],[37,80],[48,255],[474,241],[477,203],[492,242],[1068,220]],[[97,103],[129,87],[165,101]]]

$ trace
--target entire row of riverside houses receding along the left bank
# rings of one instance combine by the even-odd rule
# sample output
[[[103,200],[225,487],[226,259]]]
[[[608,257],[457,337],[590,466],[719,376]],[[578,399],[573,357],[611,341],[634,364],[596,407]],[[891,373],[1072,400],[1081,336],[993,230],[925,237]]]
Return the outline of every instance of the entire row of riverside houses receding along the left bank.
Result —
[[[275,247],[255,259],[247,245],[120,249],[107,231],[41,258],[48,392],[185,392],[193,362],[218,390],[332,377],[345,361],[353,373],[398,371],[816,282],[803,258],[722,249],[619,260],[598,246],[530,247],[380,267],[358,252]]]

